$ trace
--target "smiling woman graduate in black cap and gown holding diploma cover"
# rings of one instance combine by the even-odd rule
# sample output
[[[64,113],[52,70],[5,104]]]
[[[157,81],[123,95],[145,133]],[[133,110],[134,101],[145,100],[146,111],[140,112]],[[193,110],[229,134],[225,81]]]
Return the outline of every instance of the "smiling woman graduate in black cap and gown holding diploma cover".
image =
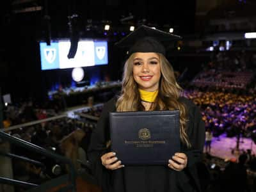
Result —
[[[159,40],[177,36],[141,26],[119,45],[130,45],[122,93],[104,105],[88,153],[103,191],[200,191],[196,163],[204,148],[205,129],[193,102],[180,97],[181,88]],[[138,40],[139,39],[139,40]],[[138,41],[137,41],[138,40]],[[180,146],[166,166],[125,166],[109,151],[109,119],[114,111],[180,111]]]

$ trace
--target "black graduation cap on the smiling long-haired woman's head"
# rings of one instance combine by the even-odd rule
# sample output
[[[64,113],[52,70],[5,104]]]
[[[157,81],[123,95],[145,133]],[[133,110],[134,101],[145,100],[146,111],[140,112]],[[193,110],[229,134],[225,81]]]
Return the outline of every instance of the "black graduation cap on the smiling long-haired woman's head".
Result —
[[[129,55],[134,52],[159,52],[165,56],[166,50],[163,43],[179,40],[180,38],[181,36],[142,25],[115,45],[129,47]]]

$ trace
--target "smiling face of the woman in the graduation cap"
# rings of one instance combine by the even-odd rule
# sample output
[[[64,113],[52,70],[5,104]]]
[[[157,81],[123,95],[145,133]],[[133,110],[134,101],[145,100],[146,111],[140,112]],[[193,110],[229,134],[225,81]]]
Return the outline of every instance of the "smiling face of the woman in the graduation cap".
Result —
[[[136,52],[132,72],[141,90],[156,91],[161,77],[159,56],[154,52]]]

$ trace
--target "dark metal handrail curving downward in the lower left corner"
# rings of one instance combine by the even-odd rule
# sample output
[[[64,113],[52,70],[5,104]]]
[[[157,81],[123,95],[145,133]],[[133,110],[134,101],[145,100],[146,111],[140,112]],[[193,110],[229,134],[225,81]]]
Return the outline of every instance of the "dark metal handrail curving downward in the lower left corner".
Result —
[[[20,140],[19,138],[10,136],[9,134],[6,134],[3,131],[0,131],[0,138],[2,140],[6,140],[6,141],[9,141],[10,143],[13,143],[14,145],[18,145],[19,147],[23,147],[33,152],[36,152],[38,154],[51,157],[52,159],[58,159],[58,161],[60,161],[61,163],[68,164],[70,168],[70,175],[69,175],[70,184],[69,186],[64,187],[65,189],[61,189],[61,191],[68,191],[70,189],[72,189],[72,192],[76,191],[76,172],[75,172],[74,165],[72,164],[70,159],[67,159],[66,157],[55,154],[49,150],[46,150],[45,148],[38,147],[37,145],[29,143],[28,141]],[[36,187],[35,184],[21,182],[19,180],[6,179],[6,178],[1,178],[0,182],[8,183],[8,184],[16,184],[16,185],[18,184],[18,185],[29,186],[29,187],[33,187],[33,186]]]

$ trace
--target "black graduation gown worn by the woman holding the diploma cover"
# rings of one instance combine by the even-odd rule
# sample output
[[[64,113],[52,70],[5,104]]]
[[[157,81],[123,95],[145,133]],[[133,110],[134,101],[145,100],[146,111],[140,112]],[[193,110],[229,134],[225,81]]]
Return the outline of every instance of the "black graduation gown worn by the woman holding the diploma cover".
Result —
[[[93,164],[93,175],[102,191],[108,192],[173,192],[200,191],[196,163],[200,161],[204,148],[205,127],[198,107],[190,100],[180,97],[188,109],[188,136],[192,147],[181,143],[181,151],[188,156],[188,165],[181,172],[166,166],[125,166],[118,170],[107,170],[102,166],[100,157],[109,152],[109,112],[116,111],[116,99],[104,104],[97,127],[92,132],[88,159]],[[118,157],[118,154],[116,154]],[[171,157],[170,157],[171,159]]]

